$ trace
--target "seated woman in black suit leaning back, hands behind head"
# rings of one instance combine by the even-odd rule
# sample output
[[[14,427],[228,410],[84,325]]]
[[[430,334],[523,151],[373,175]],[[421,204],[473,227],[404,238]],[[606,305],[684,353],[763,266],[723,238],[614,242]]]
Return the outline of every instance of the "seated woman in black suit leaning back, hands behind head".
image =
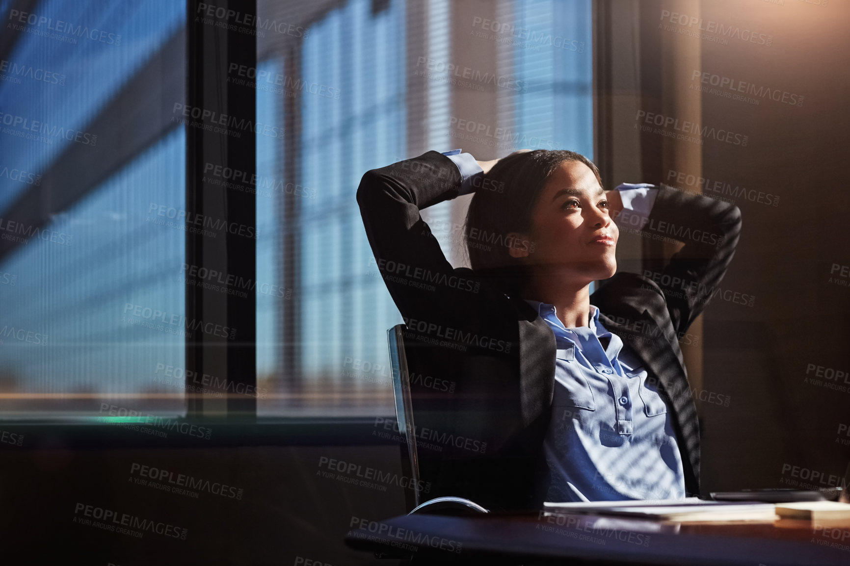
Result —
[[[365,173],[357,191],[407,326],[428,495],[519,509],[699,494],[679,339],[734,255],[738,208],[653,185],[635,185],[637,196],[621,185],[624,206],[570,151],[470,161],[428,151]],[[472,191],[472,269],[455,269],[419,212]],[[646,218],[632,207],[641,199]],[[615,273],[621,211],[618,221],[685,244],[658,277]],[[594,280],[606,281],[590,295]],[[428,385],[437,380],[453,385]]]

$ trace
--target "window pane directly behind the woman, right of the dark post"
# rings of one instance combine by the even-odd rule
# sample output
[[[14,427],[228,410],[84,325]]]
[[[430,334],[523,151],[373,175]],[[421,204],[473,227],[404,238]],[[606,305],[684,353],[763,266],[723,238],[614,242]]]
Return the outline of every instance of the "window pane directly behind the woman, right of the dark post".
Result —
[[[479,159],[525,147],[592,158],[590,2],[488,9],[351,0],[319,14],[303,40],[258,38],[258,69],[288,85],[258,89],[258,121],[293,126],[286,135],[295,136],[258,137],[258,176],[286,188],[257,199],[258,222],[270,224],[258,281],[284,292],[258,292],[258,386],[269,391],[259,415],[393,411],[386,331],[401,317],[354,200],[363,173],[458,147]],[[461,120],[483,123],[489,137],[467,135]],[[451,227],[467,204],[423,213],[456,265],[465,250]]]

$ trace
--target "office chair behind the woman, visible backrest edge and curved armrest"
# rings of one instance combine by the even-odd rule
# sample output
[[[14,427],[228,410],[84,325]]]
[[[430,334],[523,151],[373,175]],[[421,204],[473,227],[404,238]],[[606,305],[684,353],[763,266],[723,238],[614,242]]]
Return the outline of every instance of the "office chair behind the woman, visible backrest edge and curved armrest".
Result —
[[[413,424],[413,402],[411,399],[411,379],[407,370],[405,355],[405,325],[394,325],[387,331],[389,345],[389,366],[393,375],[393,397],[395,399],[395,420],[399,424],[399,449],[401,450],[401,468],[411,478],[415,489],[405,491],[408,514],[474,514],[489,512],[478,503],[462,497],[435,497],[419,501],[419,460],[416,457],[416,428]]]

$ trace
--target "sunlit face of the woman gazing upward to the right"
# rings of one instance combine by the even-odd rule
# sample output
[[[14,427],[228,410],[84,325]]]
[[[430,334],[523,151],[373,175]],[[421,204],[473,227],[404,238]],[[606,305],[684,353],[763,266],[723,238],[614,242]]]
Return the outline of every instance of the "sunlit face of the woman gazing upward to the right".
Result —
[[[512,255],[523,257],[532,274],[555,275],[564,284],[586,286],[615,274],[619,235],[590,167],[563,161],[541,191],[530,232],[524,235],[535,243],[534,252],[512,250]]]

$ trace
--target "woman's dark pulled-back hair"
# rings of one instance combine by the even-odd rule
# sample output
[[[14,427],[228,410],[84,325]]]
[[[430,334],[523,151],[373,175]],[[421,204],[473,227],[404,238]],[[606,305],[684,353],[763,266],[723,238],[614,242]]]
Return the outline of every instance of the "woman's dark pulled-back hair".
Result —
[[[504,157],[485,175],[484,183],[469,203],[466,242],[472,269],[490,277],[506,291],[519,293],[527,280],[524,264],[512,258],[511,246],[529,246],[534,242],[511,241],[511,232],[528,232],[531,213],[547,179],[564,161],[581,161],[602,178],[592,161],[575,151],[533,150]]]

